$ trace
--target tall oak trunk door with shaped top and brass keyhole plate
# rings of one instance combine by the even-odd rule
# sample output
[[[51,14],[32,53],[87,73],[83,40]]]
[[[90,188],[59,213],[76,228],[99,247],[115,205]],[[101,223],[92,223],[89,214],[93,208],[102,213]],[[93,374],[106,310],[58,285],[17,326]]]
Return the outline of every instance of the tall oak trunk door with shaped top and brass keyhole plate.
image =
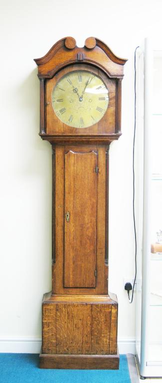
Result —
[[[97,161],[69,151],[64,163],[64,287],[96,286]]]

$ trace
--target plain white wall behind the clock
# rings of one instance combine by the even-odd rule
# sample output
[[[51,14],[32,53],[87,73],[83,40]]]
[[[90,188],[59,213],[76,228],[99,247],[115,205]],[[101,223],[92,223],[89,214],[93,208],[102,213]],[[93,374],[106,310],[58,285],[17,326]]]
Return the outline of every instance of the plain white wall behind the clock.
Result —
[[[0,3],[0,351],[39,352],[41,300],[51,288],[51,147],[38,136],[39,81],[33,58],[69,35],[79,46],[96,36],[129,59],[122,84],[123,136],[110,149],[109,234],[109,289],[119,299],[120,350],[129,352],[136,302],[129,304],[123,279],[134,276],[134,50],[153,30],[162,34],[162,2]]]

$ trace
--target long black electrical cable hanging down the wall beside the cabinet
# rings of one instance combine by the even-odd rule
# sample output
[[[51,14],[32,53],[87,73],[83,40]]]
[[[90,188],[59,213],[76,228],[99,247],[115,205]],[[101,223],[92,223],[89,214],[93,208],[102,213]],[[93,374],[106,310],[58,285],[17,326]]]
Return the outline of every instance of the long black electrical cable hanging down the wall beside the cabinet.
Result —
[[[136,137],[136,51],[139,46],[135,49],[134,67],[135,67],[135,125],[134,125],[134,139],[133,139],[133,222],[135,231],[135,279],[133,283],[132,298],[130,303],[133,302],[135,283],[137,277],[137,236],[136,236],[136,220],[135,220],[135,137]]]

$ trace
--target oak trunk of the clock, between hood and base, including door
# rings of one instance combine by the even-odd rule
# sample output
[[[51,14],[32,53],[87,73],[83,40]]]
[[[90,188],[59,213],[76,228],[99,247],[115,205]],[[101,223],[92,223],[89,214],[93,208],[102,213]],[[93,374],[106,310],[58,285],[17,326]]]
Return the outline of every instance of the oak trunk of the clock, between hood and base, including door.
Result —
[[[52,294],[108,294],[105,253],[107,147],[56,145],[54,150]],[[65,218],[67,210],[69,222]]]

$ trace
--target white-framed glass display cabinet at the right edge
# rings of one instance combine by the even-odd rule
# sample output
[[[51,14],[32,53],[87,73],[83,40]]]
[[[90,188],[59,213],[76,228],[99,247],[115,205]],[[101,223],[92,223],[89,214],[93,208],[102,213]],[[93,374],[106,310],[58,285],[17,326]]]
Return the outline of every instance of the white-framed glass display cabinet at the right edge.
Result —
[[[141,378],[162,377],[162,41],[137,51],[137,317]]]

